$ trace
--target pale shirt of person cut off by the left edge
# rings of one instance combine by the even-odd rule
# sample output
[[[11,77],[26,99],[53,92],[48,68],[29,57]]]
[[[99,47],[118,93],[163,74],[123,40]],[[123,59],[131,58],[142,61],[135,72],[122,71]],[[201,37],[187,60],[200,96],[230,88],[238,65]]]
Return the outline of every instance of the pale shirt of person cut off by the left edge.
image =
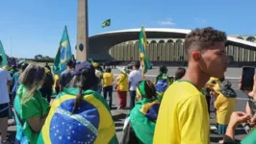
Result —
[[[10,103],[8,81],[12,81],[10,73],[5,69],[0,68],[0,104]]]

